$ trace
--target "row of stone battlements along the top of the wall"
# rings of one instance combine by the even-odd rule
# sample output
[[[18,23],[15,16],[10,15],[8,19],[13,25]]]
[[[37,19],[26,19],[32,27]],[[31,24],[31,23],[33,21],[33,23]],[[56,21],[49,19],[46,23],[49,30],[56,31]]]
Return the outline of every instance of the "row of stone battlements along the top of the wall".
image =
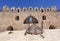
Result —
[[[23,7],[23,8],[15,8],[15,7],[11,7],[9,9],[8,6],[3,6],[3,11],[17,11],[17,12],[20,12],[20,11],[41,11],[41,12],[44,12],[44,11],[56,11],[56,6],[52,6],[51,8],[47,7],[46,9],[41,7],[40,9],[38,7],[29,7],[29,8],[26,8],[26,7]]]

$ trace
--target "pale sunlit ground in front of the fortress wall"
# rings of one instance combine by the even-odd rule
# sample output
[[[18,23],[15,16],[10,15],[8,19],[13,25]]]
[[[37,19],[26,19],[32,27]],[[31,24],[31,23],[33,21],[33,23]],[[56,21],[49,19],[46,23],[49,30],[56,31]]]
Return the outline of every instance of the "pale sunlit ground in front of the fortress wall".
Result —
[[[9,31],[0,33],[0,41],[60,41],[60,29],[55,30],[44,30],[43,36],[40,35],[24,35],[25,30],[13,31],[13,33],[8,34]]]

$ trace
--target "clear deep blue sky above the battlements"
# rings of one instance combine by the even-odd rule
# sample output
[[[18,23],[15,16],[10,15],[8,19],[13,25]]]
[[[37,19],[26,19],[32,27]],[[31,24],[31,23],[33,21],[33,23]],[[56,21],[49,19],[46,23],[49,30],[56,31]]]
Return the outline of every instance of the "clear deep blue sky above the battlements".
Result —
[[[11,7],[38,7],[40,8],[41,6],[46,8],[46,7],[51,7],[51,6],[56,6],[58,10],[60,10],[60,0],[0,0],[0,10],[2,10],[3,6],[7,5],[9,8]]]

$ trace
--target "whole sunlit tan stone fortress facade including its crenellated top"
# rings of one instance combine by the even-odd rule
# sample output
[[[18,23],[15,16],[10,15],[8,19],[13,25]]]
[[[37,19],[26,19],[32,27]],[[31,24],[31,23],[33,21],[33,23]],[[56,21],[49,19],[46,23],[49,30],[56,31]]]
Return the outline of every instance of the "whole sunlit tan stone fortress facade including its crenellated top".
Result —
[[[33,23],[29,23],[29,16],[32,17]],[[56,6],[51,8],[3,6],[3,10],[0,11],[0,31],[6,31],[9,26],[13,27],[13,30],[21,30],[28,28],[29,24],[36,24],[43,29],[50,29],[50,27],[60,29],[60,12],[56,10]]]

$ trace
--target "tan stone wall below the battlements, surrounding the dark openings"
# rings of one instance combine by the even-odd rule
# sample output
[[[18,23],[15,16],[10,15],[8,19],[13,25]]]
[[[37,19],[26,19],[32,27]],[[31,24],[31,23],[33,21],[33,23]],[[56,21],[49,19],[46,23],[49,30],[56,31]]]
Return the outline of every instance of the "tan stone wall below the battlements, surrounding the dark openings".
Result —
[[[41,27],[43,21],[43,28],[49,29],[50,25],[54,25],[56,29],[60,28],[60,12],[57,11],[3,11],[0,12],[0,31],[7,30],[8,26],[12,26],[14,30],[25,29],[29,24],[24,24],[24,20],[28,16],[33,16],[38,20],[38,25]],[[42,16],[46,16],[46,20],[42,20]],[[15,17],[19,16],[19,20],[15,20]]]

